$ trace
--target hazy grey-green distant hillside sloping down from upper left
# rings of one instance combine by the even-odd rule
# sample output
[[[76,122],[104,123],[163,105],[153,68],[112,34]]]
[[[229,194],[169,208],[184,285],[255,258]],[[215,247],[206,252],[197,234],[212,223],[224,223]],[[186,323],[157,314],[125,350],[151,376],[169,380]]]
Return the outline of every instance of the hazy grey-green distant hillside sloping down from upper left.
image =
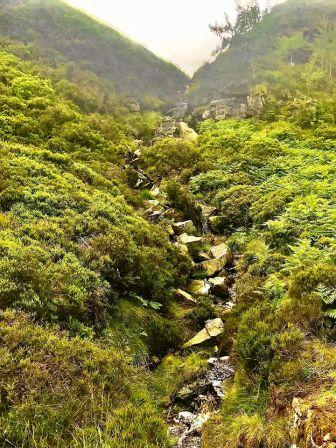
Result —
[[[30,45],[32,58],[75,64],[136,99],[170,100],[188,83],[173,64],[61,0],[2,0],[0,7],[1,36]]]

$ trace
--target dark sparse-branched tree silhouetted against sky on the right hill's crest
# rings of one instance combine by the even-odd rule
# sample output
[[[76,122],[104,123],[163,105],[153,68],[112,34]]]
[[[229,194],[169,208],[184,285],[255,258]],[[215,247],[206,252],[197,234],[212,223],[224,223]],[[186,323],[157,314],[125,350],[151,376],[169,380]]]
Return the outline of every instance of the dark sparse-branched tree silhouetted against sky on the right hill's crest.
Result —
[[[224,23],[216,22],[214,25],[209,25],[211,32],[220,38],[220,45],[213,54],[216,55],[227,50],[236,36],[243,36],[251,31],[269,11],[268,7],[262,9],[257,0],[249,0],[248,3],[236,0],[237,17],[235,22],[232,22],[228,14],[225,13]]]

